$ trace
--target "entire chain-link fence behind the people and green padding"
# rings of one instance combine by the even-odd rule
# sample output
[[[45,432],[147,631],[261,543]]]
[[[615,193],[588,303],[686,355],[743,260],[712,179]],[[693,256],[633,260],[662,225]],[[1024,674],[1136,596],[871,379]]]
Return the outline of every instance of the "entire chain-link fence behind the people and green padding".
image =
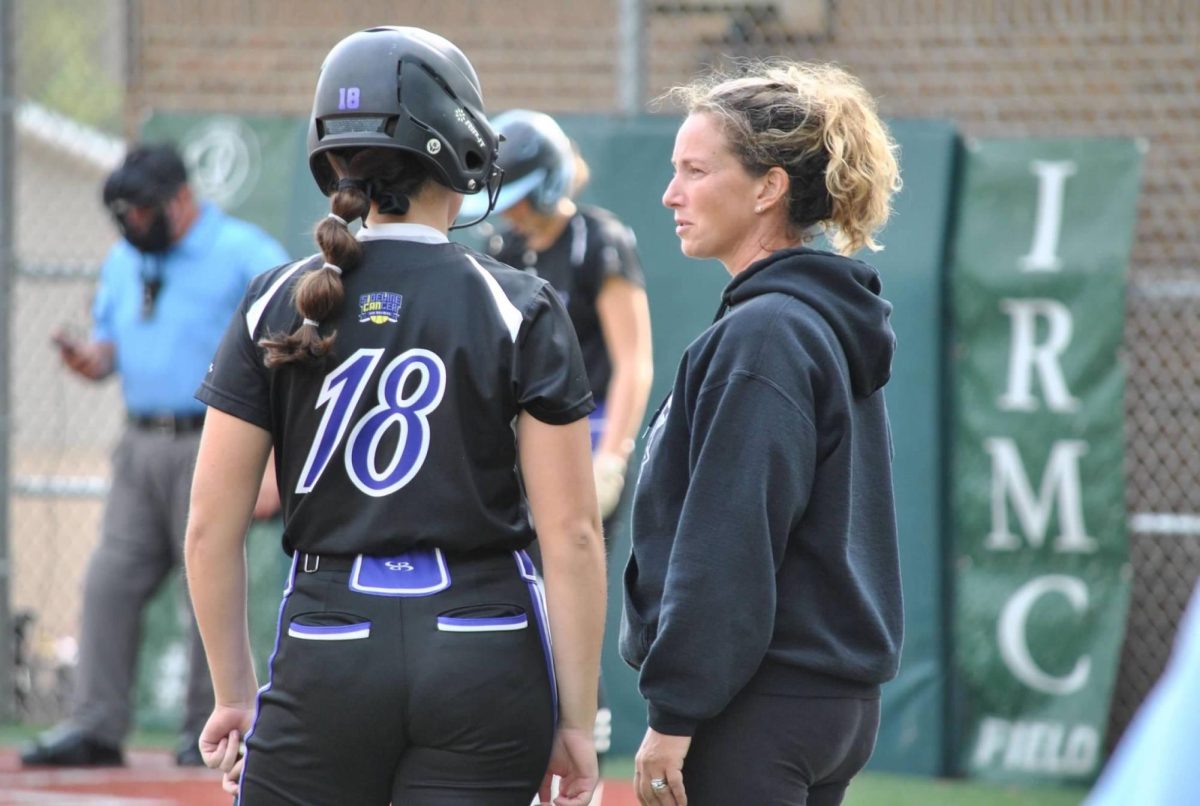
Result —
[[[98,187],[119,157],[122,115],[304,114],[324,49],[379,22],[424,25],[481,52],[485,84],[499,88],[500,106],[618,112],[620,82],[636,80],[647,101],[702,66],[782,55],[840,62],[886,114],[949,118],[967,137],[1147,140],[1123,356],[1133,600],[1110,740],[1160,674],[1200,577],[1200,4],[581,0],[551,8],[514,0],[502,18],[466,0],[350,0],[336,8],[308,0],[13,2],[11,596],[14,609],[35,614],[25,645],[35,673],[52,684],[70,662],[83,560],[97,534],[121,408],[114,384],[77,381],[58,366],[49,335],[60,325],[88,327],[95,271],[114,236]],[[628,24],[630,13],[637,24]],[[617,34],[630,30],[642,37],[632,55]],[[533,76],[524,58],[532,52],[538,64],[570,67]],[[226,66],[221,76],[212,64]],[[587,78],[564,91],[554,73],[570,70]],[[269,80],[278,86],[254,101],[257,83]],[[43,704],[30,700],[30,718],[52,716],[54,685],[46,690]]]

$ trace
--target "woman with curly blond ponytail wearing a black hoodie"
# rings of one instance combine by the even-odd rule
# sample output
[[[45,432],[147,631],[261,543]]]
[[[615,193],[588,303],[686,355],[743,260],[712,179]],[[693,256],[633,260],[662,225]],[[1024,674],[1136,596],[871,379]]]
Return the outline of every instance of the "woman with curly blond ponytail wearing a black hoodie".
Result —
[[[863,88],[761,65],[680,88],[662,203],[732,276],[655,415],[620,649],[641,669],[643,804],[841,802],[898,666],[900,575],[874,269],[900,181]],[[840,254],[804,246],[826,230]]]

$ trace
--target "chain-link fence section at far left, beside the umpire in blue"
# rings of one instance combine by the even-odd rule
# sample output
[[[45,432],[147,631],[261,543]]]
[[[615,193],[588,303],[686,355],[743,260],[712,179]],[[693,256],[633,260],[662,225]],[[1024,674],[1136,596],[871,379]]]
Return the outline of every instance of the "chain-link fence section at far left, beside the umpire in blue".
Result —
[[[50,337],[88,333],[97,270],[115,237],[100,187],[124,152],[125,26],[124,4],[113,0],[19,0],[12,12],[10,597],[17,715],[48,722],[66,704],[83,570],[122,413],[116,384],[66,372]]]

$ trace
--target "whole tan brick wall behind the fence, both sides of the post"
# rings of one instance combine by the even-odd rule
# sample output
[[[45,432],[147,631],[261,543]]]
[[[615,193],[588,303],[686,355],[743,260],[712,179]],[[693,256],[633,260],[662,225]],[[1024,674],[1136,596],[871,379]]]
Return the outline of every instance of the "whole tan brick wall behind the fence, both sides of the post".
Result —
[[[342,36],[413,24],[467,52],[493,109],[616,109],[618,5],[137,0],[131,106],[304,114]],[[649,97],[722,54],[774,54],[838,61],[887,114],[952,118],[968,136],[1142,137],[1135,271],[1200,266],[1200,2],[832,0],[828,35],[811,37],[761,16],[738,37],[734,13],[664,13],[684,5],[647,2]]]

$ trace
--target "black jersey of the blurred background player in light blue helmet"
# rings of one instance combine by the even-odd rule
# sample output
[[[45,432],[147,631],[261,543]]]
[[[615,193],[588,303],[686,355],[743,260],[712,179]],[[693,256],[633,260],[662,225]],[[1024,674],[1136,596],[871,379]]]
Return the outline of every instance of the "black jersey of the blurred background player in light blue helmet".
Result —
[[[488,239],[487,252],[500,263],[550,281],[571,314],[592,393],[596,401],[606,399],[612,362],[600,327],[596,297],[610,277],[622,277],[640,288],[646,285],[632,230],[607,210],[581,205],[545,252],[534,252],[524,237],[511,231]]]

